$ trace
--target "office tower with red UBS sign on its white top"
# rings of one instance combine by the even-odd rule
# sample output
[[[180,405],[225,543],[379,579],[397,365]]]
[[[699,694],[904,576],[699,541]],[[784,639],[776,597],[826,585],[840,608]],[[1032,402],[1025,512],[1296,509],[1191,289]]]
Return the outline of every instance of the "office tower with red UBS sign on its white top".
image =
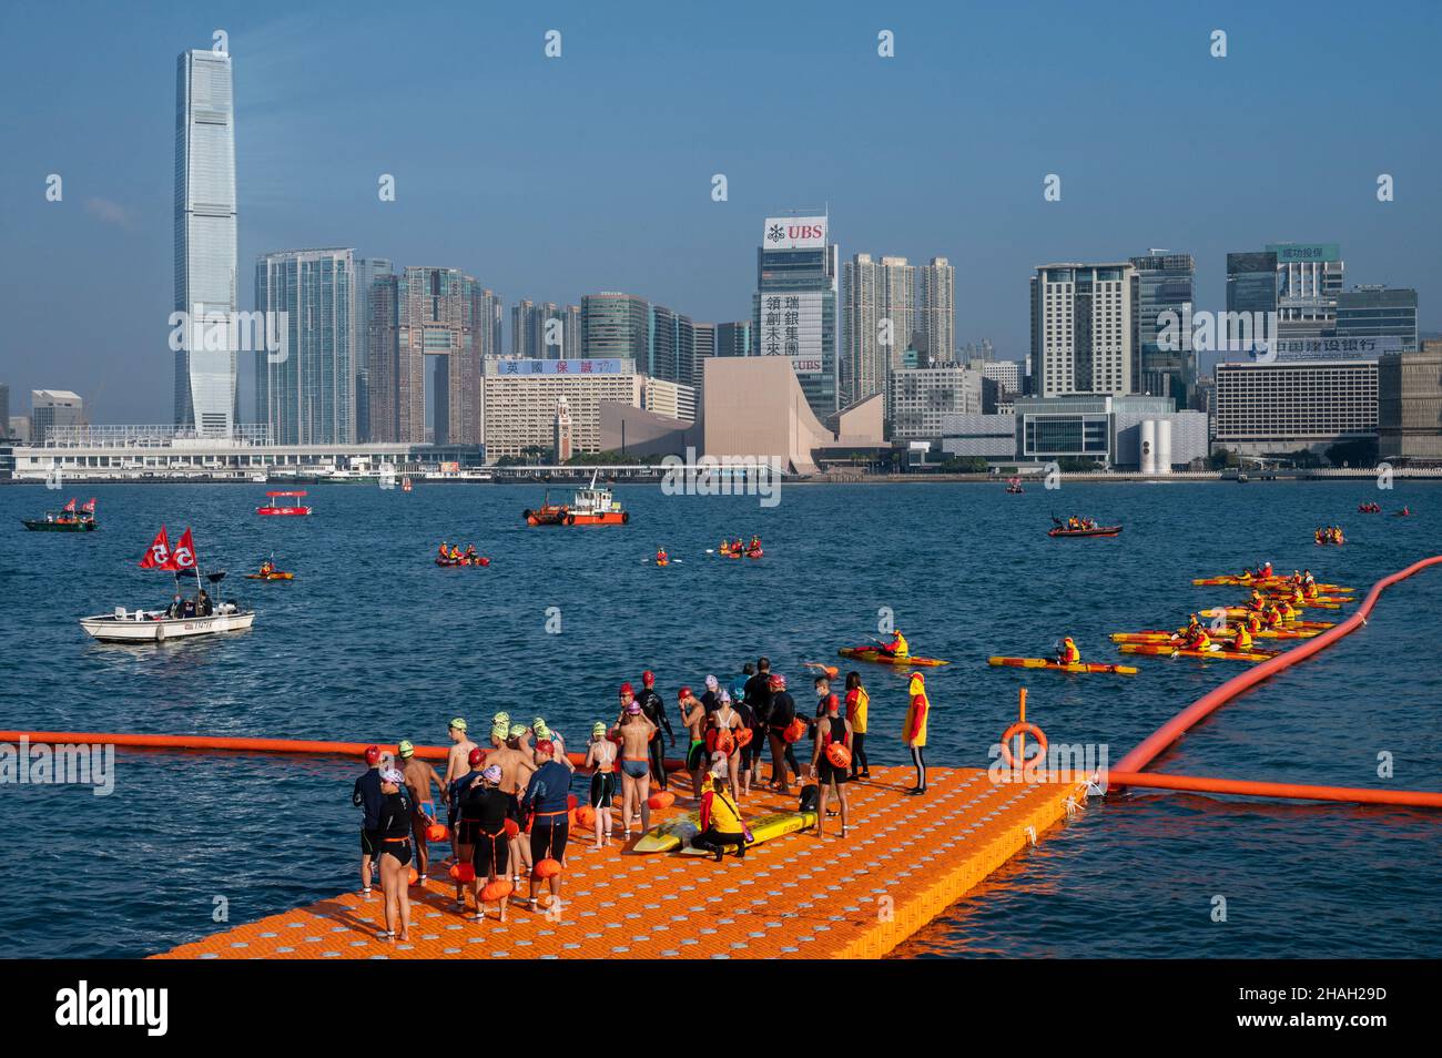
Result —
[[[760,356],[786,356],[816,418],[839,406],[839,249],[826,216],[769,216],[756,251],[751,324]]]

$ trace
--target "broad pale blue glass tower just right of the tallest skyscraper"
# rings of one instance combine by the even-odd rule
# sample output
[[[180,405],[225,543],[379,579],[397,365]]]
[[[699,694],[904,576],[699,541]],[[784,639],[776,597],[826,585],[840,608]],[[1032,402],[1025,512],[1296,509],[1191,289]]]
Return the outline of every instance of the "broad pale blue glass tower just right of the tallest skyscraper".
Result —
[[[255,261],[255,310],[286,320],[284,352],[255,353],[255,418],[273,444],[356,440],[352,249],[287,249]]]

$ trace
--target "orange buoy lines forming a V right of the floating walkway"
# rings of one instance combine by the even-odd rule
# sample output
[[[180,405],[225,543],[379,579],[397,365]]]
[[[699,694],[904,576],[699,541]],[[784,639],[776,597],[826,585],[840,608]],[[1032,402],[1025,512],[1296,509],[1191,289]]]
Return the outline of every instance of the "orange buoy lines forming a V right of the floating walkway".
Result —
[[[1250,793],[1262,797],[1293,797],[1302,800],[1353,801],[1364,804],[1410,804],[1417,807],[1442,807],[1442,794],[1416,790],[1368,790],[1363,787],[1328,787],[1328,786],[1296,786],[1289,783],[1252,783],[1246,780],[1229,778],[1200,778],[1191,775],[1156,775],[1142,774],[1142,768],[1159,757],[1169,745],[1181,738],[1187,731],[1211,715],[1223,705],[1237,698],[1242,692],[1252,689],[1270,676],[1289,669],[1299,662],[1305,662],[1318,650],[1330,647],[1343,636],[1350,636],[1367,623],[1367,615],[1381,592],[1397,581],[1405,581],[1413,574],[1428,566],[1442,564],[1442,555],[1425,558],[1413,562],[1406,569],[1399,569],[1389,577],[1383,577],[1367,592],[1367,598],[1357,611],[1334,628],[1328,628],[1321,636],[1305,640],[1301,646],[1285,650],[1276,657],[1262,662],[1246,672],[1233,676],[1221,686],[1207,692],[1180,714],[1167,721],[1162,726],[1148,735],[1126,757],[1118,761],[1116,768],[1107,773],[1107,786],[1151,786],[1159,788],[1197,790],[1206,793]],[[1185,786],[1182,786],[1185,783]],[[1298,791],[1311,793],[1298,793]]]

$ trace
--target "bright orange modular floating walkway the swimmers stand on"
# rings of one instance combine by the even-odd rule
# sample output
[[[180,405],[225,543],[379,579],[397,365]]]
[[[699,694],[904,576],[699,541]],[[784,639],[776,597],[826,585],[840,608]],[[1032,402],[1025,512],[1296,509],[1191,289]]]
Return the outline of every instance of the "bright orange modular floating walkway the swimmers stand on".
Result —
[[[594,850],[591,835],[572,833],[559,914],[513,898],[505,924],[495,905],[473,923],[451,910],[448,881],[433,878],[411,888],[408,943],[376,938],[376,886],[369,898],[348,892],[156,957],[880,959],[1084,796],[1084,783],[995,784],[981,768],[932,768],[929,791],[907,797],[913,777],[910,768],[874,768],[871,781],[849,784],[845,840],[835,836],[839,820],[828,819],[825,839],[777,837],[744,861]],[[795,797],[757,791],[743,803],[747,816],[795,807]],[[652,813],[652,823],[686,810]],[[433,855],[444,849],[431,846]]]

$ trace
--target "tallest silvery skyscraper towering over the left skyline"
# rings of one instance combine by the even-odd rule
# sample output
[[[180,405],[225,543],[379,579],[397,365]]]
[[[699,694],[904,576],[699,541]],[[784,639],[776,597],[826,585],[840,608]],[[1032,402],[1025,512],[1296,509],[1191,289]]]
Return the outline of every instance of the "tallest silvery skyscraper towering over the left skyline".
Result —
[[[234,319],[235,107],[231,56],[182,52],[176,61],[174,307],[192,323]],[[193,349],[185,329],[174,353],[174,424],[229,437],[236,419],[236,349]],[[229,343],[226,343],[229,344]]]

